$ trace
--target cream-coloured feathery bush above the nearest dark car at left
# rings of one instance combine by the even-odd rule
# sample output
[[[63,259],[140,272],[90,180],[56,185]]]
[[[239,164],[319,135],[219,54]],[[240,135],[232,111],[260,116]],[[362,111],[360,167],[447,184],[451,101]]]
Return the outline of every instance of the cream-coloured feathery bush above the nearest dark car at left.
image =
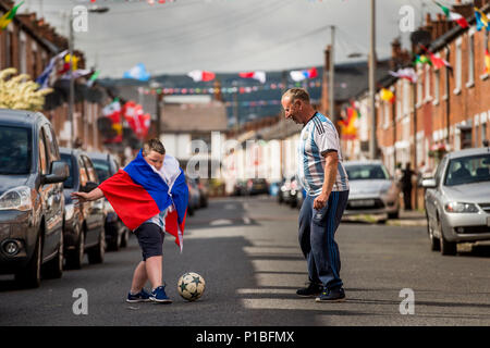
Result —
[[[29,75],[16,75],[16,73],[17,71],[14,67],[0,71],[0,108],[29,111],[42,110],[45,97],[52,89],[39,89],[39,85],[30,80]]]

